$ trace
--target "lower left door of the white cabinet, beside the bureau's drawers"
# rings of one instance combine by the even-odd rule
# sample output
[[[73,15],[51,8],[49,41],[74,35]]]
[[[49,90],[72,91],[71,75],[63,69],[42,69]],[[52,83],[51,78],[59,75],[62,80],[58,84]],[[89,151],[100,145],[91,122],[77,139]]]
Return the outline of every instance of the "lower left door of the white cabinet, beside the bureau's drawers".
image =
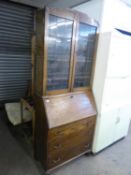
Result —
[[[116,115],[117,110],[114,110],[97,117],[92,149],[94,153],[101,151],[114,142]]]

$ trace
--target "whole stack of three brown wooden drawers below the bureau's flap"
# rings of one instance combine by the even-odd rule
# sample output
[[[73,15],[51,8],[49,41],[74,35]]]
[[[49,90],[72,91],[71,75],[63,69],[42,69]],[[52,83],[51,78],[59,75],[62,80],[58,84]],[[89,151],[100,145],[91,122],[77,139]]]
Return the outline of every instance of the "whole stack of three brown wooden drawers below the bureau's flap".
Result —
[[[95,117],[51,130],[48,140],[48,169],[90,150]]]

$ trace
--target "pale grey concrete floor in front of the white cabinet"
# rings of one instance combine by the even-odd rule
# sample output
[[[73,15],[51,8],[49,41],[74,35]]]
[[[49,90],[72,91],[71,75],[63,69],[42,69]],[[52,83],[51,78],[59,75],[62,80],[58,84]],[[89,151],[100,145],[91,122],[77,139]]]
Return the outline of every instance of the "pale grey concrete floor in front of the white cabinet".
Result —
[[[125,139],[99,154],[82,156],[52,175],[131,175],[131,127]]]

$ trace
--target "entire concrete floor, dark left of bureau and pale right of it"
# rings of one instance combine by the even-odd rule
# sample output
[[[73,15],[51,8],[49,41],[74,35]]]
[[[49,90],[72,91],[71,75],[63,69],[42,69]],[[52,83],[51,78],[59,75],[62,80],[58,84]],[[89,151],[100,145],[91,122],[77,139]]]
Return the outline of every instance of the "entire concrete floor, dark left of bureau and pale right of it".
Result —
[[[12,135],[0,112],[0,175],[44,175],[38,162]],[[82,156],[51,175],[131,175],[131,127],[128,136],[97,155]]]

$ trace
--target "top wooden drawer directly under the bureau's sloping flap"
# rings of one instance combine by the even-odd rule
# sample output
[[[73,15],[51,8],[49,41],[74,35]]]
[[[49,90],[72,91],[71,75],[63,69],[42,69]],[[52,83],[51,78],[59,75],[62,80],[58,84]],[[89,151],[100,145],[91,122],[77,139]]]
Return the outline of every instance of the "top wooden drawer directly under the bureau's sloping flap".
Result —
[[[96,117],[92,116],[68,125],[53,128],[48,133],[48,139],[49,141],[54,141],[60,138],[69,139],[81,131],[90,131],[92,128],[94,128],[95,119]]]

